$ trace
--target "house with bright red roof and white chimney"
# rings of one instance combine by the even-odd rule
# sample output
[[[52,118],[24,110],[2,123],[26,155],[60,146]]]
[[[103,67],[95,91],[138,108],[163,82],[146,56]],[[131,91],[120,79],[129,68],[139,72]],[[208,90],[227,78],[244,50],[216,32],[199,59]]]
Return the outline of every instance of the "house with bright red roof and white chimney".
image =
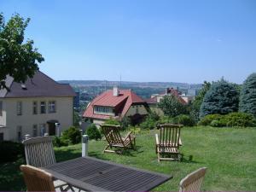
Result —
[[[83,117],[91,123],[102,125],[106,119],[128,117],[136,124],[148,114],[147,103],[131,90],[107,90],[90,102]]]

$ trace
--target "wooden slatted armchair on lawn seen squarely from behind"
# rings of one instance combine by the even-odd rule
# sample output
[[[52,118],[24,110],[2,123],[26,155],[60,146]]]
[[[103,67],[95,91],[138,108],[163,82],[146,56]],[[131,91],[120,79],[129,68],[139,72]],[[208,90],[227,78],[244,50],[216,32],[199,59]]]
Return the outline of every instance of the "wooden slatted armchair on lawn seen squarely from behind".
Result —
[[[157,127],[160,129],[160,138],[155,134],[155,153],[158,155],[158,161],[178,160],[178,148],[182,145],[180,129],[183,125],[157,125]]]

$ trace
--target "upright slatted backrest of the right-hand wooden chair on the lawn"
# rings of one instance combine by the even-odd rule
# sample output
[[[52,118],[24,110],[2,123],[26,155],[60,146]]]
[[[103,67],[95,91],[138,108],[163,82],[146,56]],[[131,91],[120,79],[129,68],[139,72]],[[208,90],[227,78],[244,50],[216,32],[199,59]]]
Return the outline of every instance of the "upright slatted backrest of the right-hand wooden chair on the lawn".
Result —
[[[160,129],[160,146],[169,148],[179,148],[180,129],[183,125],[157,125]]]

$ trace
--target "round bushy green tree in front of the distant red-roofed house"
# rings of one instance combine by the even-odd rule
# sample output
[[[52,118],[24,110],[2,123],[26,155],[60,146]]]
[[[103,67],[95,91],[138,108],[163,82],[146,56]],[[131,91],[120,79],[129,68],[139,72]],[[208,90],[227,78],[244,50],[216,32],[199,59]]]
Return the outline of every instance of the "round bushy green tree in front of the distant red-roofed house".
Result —
[[[186,113],[185,106],[178,101],[176,96],[164,96],[158,103],[158,107],[169,117]]]

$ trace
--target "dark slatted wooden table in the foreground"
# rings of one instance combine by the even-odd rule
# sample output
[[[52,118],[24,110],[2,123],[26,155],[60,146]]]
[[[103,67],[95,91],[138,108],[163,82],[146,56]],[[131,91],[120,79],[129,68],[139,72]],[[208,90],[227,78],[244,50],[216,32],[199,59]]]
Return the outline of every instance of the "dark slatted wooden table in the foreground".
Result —
[[[42,169],[55,178],[89,191],[148,191],[172,178],[91,157],[67,160]]]

